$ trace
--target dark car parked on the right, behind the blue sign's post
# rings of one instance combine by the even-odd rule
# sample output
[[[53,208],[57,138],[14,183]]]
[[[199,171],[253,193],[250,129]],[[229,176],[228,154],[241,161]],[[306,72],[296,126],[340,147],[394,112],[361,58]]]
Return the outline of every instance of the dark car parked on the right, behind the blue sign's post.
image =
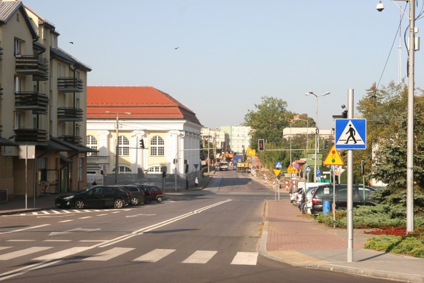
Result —
[[[370,197],[370,193],[376,191],[372,187],[365,186],[365,200],[363,185],[353,185],[352,202],[353,207],[360,205],[374,205],[374,200]],[[335,207],[336,209],[347,208],[347,185],[335,185]],[[322,212],[322,203],[324,200],[333,201],[333,184],[324,184],[318,186],[312,197],[311,213],[317,214]]]

